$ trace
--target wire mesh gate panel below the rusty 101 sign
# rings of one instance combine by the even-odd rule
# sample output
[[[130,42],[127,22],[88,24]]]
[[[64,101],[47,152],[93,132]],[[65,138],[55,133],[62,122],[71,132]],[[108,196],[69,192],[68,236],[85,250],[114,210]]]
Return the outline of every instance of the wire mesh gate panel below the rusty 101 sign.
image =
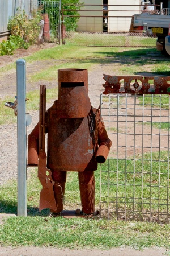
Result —
[[[100,215],[169,222],[169,95],[101,94],[112,139],[100,170]]]

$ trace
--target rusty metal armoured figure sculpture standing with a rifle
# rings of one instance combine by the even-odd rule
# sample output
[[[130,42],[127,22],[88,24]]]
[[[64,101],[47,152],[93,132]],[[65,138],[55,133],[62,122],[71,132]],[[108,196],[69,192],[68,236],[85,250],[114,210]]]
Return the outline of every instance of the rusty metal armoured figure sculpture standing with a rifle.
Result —
[[[44,96],[44,93],[40,94]],[[40,111],[45,113],[41,109],[44,108],[40,103]],[[47,163],[41,131],[42,138],[48,133]],[[59,69],[58,100],[47,110],[45,122],[43,118],[41,122],[40,115],[40,122],[28,135],[28,165],[39,165],[42,184],[40,210],[50,208],[53,213],[63,210],[66,174],[67,171],[76,171],[82,211],[94,213],[94,171],[97,163],[104,163],[107,159],[111,144],[100,111],[91,106],[88,97],[87,70]],[[46,170],[48,176],[44,175]]]

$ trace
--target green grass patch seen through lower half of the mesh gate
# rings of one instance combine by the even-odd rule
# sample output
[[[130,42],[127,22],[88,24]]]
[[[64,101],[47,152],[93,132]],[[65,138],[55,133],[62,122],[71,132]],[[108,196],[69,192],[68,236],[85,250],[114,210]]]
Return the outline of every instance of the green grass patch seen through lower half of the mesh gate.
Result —
[[[126,201],[126,210],[149,212],[151,200],[153,211],[159,208],[166,212],[166,199],[169,191],[167,159],[168,152],[164,151],[160,156],[156,153],[152,154],[152,160],[151,155],[145,154],[143,161],[142,158],[135,160],[110,159],[109,163],[103,164],[101,167],[101,196],[103,197],[102,201],[105,201],[105,210],[108,206],[110,209],[113,206],[116,209],[117,206],[119,211],[123,211]],[[162,205],[159,205],[160,202]]]

